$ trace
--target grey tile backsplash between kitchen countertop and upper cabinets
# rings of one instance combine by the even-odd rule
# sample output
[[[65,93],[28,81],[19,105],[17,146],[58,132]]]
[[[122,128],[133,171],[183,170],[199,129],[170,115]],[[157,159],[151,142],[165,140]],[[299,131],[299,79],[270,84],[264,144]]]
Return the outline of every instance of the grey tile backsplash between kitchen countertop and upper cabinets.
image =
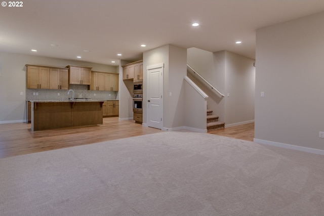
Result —
[[[87,98],[87,99],[95,99],[95,100],[118,99],[118,92],[90,91],[88,90],[88,85],[70,84],[69,88],[74,91],[74,98]],[[67,95],[67,92],[68,90],[26,89],[26,100],[70,99],[72,97],[72,93]],[[36,95],[36,93],[38,93],[38,95]]]

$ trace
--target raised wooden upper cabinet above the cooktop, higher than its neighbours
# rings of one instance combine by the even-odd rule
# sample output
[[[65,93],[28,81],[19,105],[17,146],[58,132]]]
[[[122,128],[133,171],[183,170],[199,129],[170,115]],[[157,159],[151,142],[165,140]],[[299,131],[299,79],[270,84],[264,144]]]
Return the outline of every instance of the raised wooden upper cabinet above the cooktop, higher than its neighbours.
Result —
[[[68,65],[70,84],[91,84],[91,67]]]

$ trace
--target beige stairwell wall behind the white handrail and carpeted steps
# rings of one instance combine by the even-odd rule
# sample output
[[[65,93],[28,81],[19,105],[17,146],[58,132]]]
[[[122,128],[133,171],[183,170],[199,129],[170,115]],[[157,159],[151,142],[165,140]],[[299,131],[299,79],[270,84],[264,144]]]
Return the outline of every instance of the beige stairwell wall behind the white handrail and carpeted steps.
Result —
[[[255,67],[254,60],[228,51],[211,53],[197,48],[188,49],[188,64],[225,95],[219,97],[198,82],[208,96],[208,109],[219,116],[226,126],[254,121]],[[229,94],[229,97],[228,97]]]

